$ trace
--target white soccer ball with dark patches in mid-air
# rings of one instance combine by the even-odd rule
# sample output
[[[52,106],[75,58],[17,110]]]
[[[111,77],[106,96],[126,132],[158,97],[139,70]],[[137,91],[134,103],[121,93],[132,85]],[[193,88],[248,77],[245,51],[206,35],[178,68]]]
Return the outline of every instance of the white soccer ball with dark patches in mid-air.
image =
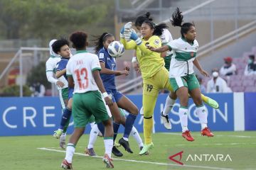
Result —
[[[121,57],[124,54],[124,45],[119,41],[113,41],[107,47],[107,52],[111,57]]]

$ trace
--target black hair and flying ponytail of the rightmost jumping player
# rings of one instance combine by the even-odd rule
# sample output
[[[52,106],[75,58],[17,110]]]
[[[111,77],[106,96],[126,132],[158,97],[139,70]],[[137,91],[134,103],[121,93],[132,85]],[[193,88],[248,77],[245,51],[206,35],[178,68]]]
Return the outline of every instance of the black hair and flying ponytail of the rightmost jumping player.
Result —
[[[183,22],[183,15],[179,8],[176,8],[176,11],[172,14],[171,24],[173,26],[181,27],[181,37],[184,38],[184,33],[188,33],[188,30],[191,26],[195,26],[194,23],[181,23]]]

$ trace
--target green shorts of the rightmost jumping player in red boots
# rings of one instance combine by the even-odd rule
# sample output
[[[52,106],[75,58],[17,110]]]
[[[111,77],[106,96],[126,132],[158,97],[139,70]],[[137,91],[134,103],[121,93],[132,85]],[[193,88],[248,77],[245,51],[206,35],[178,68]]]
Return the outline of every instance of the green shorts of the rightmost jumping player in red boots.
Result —
[[[170,78],[170,83],[174,91],[178,90],[182,86],[188,87],[188,91],[191,91],[193,89],[197,89],[200,87],[198,79],[196,79],[195,74],[189,74],[183,77]]]

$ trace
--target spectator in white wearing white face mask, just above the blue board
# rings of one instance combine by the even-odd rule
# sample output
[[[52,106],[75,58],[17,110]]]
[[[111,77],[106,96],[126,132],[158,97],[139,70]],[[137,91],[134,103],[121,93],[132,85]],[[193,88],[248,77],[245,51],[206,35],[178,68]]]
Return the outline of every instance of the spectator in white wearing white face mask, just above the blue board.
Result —
[[[228,87],[226,81],[219,77],[218,69],[213,69],[213,78],[207,83],[207,93],[229,93],[232,90]]]

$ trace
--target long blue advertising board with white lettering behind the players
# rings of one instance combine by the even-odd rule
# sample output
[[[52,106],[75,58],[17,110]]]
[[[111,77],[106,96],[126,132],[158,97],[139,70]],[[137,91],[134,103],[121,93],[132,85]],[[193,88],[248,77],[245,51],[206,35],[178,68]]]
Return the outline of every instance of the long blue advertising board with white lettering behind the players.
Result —
[[[208,126],[211,130],[234,130],[234,106],[233,94],[208,94],[220,103],[220,109],[215,110],[206,105],[208,110]],[[142,108],[142,95],[127,96],[135,105]],[[169,114],[172,129],[166,130],[161,123],[160,113],[164,108],[167,94],[160,94],[154,109],[154,132],[181,132],[178,117],[179,103],[176,101],[173,110]],[[252,96],[247,96],[248,98]],[[13,135],[52,135],[60,125],[61,107],[58,97],[43,98],[0,98],[0,136]],[[246,105],[245,109],[255,109],[253,103]],[[201,125],[196,115],[196,106],[189,100],[188,128],[191,131],[200,131]],[[251,111],[251,110],[250,110]],[[255,113],[255,112],[253,112]],[[250,117],[252,118],[252,117]],[[247,117],[249,121],[250,118]],[[255,121],[253,122],[255,123]],[[252,126],[252,124],[248,125]],[[139,132],[143,132],[143,117],[138,115],[134,126]],[[68,133],[73,132],[73,123],[68,128]],[[86,132],[90,132],[87,125]],[[123,132],[123,128],[119,130]]]

